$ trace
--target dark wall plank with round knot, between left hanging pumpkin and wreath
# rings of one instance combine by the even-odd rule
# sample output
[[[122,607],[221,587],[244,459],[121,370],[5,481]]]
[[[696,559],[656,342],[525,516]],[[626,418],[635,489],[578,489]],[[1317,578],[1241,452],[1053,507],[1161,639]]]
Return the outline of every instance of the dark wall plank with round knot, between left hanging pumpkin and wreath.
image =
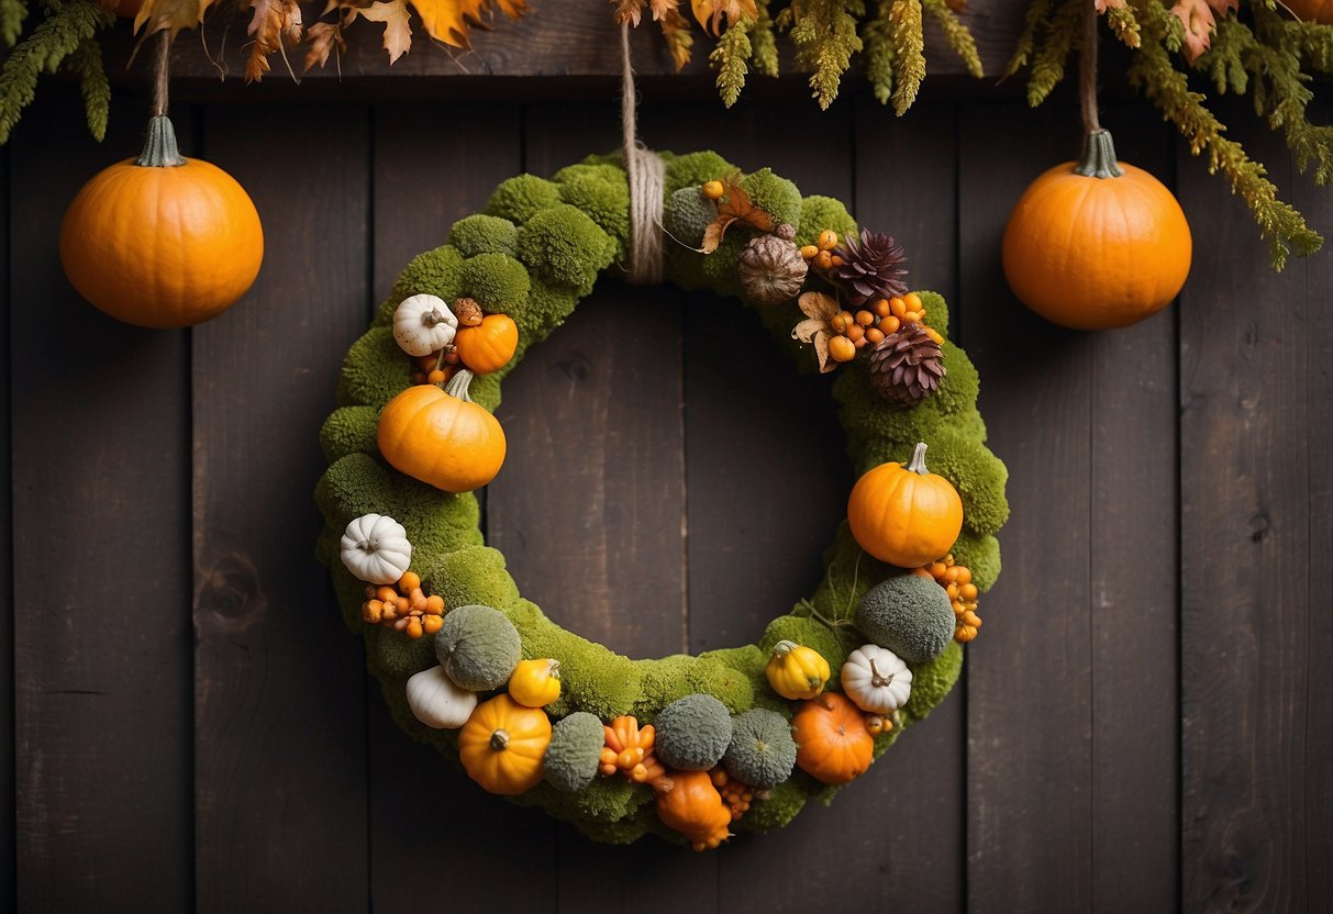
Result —
[[[369,308],[368,124],[319,107],[205,121],[207,156],[255,199],[267,250],[255,288],[193,332],[203,911],[367,898],[364,665],[311,558],[311,490]]]

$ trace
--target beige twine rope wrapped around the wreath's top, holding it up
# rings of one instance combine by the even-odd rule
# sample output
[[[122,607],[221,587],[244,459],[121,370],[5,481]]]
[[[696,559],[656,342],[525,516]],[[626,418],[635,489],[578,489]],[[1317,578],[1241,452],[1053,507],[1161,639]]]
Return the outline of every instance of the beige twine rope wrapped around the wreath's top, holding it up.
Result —
[[[1089,0],[1092,3],[1092,0]],[[663,184],[665,163],[639,141],[635,68],[629,61],[629,25],[620,27],[623,76],[620,84],[620,127],[629,177],[629,262],[625,280],[633,285],[663,281]]]

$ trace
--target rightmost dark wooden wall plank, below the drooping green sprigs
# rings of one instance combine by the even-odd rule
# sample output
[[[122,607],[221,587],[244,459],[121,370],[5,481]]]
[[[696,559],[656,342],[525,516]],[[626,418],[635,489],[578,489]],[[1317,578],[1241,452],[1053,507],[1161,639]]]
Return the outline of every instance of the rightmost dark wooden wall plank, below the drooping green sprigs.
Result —
[[[1241,107],[1226,113],[1278,185],[1304,180],[1277,137]],[[1180,196],[1208,264],[1181,296],[1182,905],[1321,910],[1333,847],[1314,817],[1333,753],[1316,533],[1328,514],[1312,509],[1328,505],[1333,444],[1316,424],[1329,400],[1328,253],[1274,276],[1244,205],[1188,157]],[[1302,203],[1316,225],[1333,221],[1326,192]]]

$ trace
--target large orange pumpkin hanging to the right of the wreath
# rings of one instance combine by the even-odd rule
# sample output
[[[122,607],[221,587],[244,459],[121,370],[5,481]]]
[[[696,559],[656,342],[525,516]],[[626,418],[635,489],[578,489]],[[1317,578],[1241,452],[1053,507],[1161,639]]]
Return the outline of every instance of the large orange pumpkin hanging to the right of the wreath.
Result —
[[[1176,197],[1116,161],[1110,133],[1081,161],[1056,165],[1020,197],[1004,233],[1004,273],[1022,304],[1078,330],[1128,326],[1185,285],[1193,240]]]

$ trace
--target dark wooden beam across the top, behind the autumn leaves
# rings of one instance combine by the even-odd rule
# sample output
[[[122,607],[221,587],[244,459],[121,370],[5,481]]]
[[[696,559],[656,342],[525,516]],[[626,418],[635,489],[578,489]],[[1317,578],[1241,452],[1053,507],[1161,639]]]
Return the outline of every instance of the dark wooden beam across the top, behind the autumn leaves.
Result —
[[[1022,0],[973,0],[964,21],[976,37],[985,72],[998,75],[1013,52],[1014,41],[1022,28],[1022,13],[1026,4]],[[359,24],[348,31],[348,53],[341,64],[329,61],[324,69],[313,69],[301,75],[303,80],[321,83],[359,80],[365,77],[421,77],[432,76],[449,80],[465,80],[479,76],[620,76],[620,33],[612,21],[605,4],[589,4],[583,0],[537,0],[531,4],[529,16],[513,21],[496,16],[491,31],[473,29],[472,48],[448,48],[433,43],[425,35],[420,19],[412,17],[412,51],[389,67],[381,47],[380,27]],[[688,8],[685,15],[689,16]],[[633,33],[635,68],[641,75],[673,73],[674,67],[661,39],[660,29],[651,21]],[[232,36],[244,31],[249,21],[249,11],[244,11],[228,23],[225,11],[212,15],[204,28],[211,48],[223,47],[223,33]],[[313,21],[313,20],[311,20]],[[708,52],[713,39],[705,36],[696,25],[694,56],[686,73],[708,72]],[[926,16],[926,60],[932,76],[965,76],[966,71],[958,57],[949,49],[942,32],[934,20]],[[112,37],[108,60],[125,60],[131,47],[128,28],[121,28]],[[245,72],[248,45],[235,41],[227,45],[224,67],[233,79]],[[794,72],[790,43],[778,36],[782,49],[784,72]],[[293,57],[293,64],[299,59]],[[199,79],[217,81],[217,67],[203,53],[196,41],[180,41],[172,55],[172,75],[177,79]],[[265,83],[289,79],[281,63],[275,61],[275,69]],[[849,83],[860,81],[860,72],[849,75]],[[813,103],[810,104],[813,108]]]

